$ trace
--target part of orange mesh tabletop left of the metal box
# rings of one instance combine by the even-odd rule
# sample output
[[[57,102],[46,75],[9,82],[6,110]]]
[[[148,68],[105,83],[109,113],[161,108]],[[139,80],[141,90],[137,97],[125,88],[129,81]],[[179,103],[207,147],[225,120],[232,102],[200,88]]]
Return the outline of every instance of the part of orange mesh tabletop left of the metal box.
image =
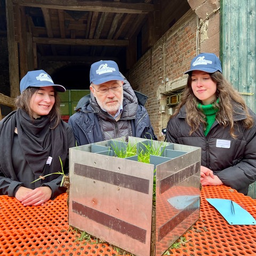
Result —
[[[67,195],[43,206],[0,196],[0,255],[117,255],[108,244],[78,242],[69,229]]]

